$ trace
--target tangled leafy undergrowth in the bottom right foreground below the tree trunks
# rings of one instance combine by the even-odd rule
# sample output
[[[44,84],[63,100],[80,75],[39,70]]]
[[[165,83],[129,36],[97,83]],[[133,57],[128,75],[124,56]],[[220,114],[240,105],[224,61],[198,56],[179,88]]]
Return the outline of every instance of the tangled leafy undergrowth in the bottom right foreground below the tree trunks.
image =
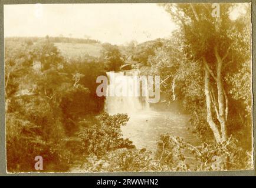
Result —
[[[193,146],[179,137],[166,133],[160,136],[155,157],[163,171],[212,171],[252,169],[251,151],[238,145],[238,140],[229,137],[227,142],[202,143]],[[189,156],[186,156],[189,155]],[[188,165],[186,158],[193,159],[195,169]]]

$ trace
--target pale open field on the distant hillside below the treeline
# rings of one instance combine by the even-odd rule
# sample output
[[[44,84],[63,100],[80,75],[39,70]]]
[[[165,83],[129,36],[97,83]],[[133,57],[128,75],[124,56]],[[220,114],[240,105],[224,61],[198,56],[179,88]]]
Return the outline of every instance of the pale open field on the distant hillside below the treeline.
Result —
[[[100,56],[101,45],[99,43],[54,43],[64,58],[76,58],[78,56],[90,55]]]

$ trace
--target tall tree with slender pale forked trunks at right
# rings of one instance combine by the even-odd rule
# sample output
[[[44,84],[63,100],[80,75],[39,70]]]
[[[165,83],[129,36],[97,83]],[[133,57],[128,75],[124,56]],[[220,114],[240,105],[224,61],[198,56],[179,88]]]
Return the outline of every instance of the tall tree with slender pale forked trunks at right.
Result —
[[[224,142],[228,138],[227,88],[232,78],[227,75],[246,62],[251,65],[250,8],[241,4],[162,5],[179,26],[186,58],[204,70],[206,120],[216,142]],[[247,17],[232,17],[236,6],[245,7]]]

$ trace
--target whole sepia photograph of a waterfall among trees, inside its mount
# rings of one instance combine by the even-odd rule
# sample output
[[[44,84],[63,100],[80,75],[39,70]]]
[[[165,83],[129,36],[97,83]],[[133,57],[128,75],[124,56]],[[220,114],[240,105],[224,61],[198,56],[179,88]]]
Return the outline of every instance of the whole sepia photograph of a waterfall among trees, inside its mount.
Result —
[[[253,170],[251,23],[250,3],[4,5],[7,173]]]

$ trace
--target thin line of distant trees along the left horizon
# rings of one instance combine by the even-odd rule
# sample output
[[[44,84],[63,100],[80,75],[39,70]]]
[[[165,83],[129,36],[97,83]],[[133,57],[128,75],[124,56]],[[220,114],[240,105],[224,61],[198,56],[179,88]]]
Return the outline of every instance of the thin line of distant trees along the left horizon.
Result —
[[[5,41],[14,41],[14,42],[38,42],[43,38],[47,38],[49,42],[57,43],[57,42],[63,42],[63,43],[100,43],[100,41],[94,40],[94,39],[81,39],[81,38],[70,38],[70,37],[64,37],[64,36],[46,36],[46,37],[6,37]]]

